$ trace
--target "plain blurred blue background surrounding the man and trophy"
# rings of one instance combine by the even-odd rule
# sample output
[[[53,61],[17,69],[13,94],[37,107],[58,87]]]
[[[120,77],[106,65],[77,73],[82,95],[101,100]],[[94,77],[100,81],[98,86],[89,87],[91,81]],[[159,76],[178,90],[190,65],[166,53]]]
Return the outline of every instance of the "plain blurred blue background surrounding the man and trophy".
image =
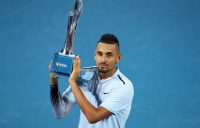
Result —
[[[200,127],[200,1],[84,0],[75,34],[82,66],[100,35],[121,43],[120,70],[134,83],[126,128]],[[0,1],[0,127],[76,128],[79,107],[54,118],[48,64],[64,44],[74,0]],[[68,87],[60,78],[61,92]]]

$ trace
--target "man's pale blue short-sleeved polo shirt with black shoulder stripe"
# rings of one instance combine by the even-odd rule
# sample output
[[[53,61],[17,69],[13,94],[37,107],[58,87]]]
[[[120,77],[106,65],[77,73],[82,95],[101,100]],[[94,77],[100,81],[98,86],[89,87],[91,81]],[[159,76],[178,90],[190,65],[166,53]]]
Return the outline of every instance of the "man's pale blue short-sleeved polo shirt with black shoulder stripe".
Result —
[[[125,77],[119,69],[113,76],[100,79],[97,69],[81,72],[78,85],[88,101],[95,107],[102,106],[112,114],[94,124],[89,124],[85,115],[81,112],[79,128],[124,128],[130,114],[134,89],[131,81]],[[63,97],[76,103],[70,87],[63,93]]]

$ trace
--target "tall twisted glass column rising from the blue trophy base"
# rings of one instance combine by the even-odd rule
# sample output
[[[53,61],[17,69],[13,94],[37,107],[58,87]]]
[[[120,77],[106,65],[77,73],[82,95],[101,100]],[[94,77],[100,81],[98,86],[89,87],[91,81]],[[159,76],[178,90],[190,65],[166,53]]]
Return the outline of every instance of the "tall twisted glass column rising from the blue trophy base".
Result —
[[[77,22],[83,10],[83,1],[75,0],[73,10],[70,11],[68,16],[68,26],[67,34],[65,38],[64,47],[61,50],[61,53],[66,55],[74,54],[74,35],[77,26]]]

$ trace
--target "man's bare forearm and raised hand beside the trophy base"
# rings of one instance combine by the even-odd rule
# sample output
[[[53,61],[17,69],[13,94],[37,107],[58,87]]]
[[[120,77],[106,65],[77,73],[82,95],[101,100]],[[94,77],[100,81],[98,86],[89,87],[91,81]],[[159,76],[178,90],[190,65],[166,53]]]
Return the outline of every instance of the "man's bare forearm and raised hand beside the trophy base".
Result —
[[[75,96],[75,99],[77,103],[79,104],[82,112],[85,114],[87,117],[88,121],[90,123],[96,123],[112,113],[108,111],[107,109],[103,107],[94,107],[90,102],[86,99],[84,94],[82,93],[81,89],[76,83],[76,80],[78,79],[78,76],[80,74],[80,58],[76,57],[74,60],[74,67],[73,67],[73,72],[71,73],[69,77],[69,83],[72,89],[72,92]]]

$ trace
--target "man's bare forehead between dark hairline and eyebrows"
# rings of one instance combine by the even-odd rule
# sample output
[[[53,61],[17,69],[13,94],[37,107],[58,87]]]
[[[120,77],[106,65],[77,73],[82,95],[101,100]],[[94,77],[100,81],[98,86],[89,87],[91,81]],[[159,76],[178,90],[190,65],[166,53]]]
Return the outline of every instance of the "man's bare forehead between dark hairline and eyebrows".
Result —
[[[96,51],[100,51],[103,53],[107,53],[107,52],[117,53],[118,47],[116,44],[106,44],[106,43],[99,42],[97,44]]]

